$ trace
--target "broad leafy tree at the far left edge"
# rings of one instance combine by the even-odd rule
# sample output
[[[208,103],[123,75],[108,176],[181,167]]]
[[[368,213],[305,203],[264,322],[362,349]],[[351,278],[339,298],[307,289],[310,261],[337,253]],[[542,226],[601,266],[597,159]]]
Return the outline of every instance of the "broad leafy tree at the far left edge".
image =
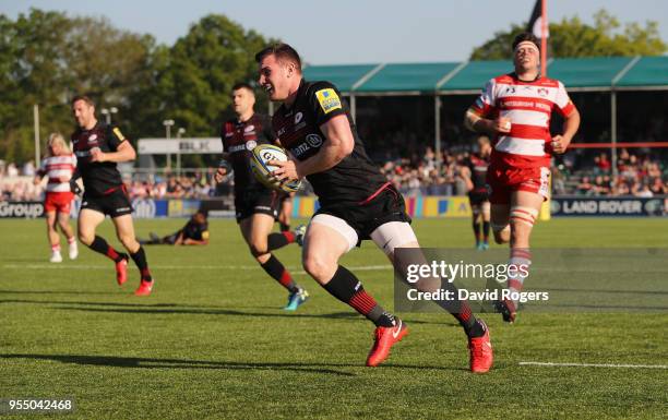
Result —
[[[32,9],[14,22],[0,15],[0,156],[8,160],[34,156],[33,105],[40,107],[44,137],[67,135],[73,95],[91,95],[98,109],[116,106],[128,121],[129,98],[151,80],[153,38],[105,19]]]

